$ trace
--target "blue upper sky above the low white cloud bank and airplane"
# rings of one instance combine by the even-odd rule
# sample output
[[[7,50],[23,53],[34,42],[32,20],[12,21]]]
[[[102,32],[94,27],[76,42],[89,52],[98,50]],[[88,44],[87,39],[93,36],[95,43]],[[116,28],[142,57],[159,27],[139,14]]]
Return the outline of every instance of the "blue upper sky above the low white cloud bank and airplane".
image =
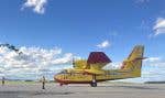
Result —
[[[136,44],[165,58],[164,0],[1,0],[0,42],[121,62]],[[105,45],[103,45],[105,43]],[[62,55],[62,56],[63,56]]]

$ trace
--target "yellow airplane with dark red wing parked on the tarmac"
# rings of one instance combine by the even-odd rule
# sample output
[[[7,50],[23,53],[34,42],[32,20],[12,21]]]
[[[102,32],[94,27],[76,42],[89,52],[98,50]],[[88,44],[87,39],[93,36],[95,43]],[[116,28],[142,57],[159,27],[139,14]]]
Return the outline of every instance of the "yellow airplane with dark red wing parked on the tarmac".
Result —
[[[62,70],[54,79],[61,86],[90,84],[91,87],[96,87],[99,81],[141,77],[142,59],[145,58],[143,53],[144,46],[136,45],[120,69],[103,69],[111,59],[103,52],[91,52],[88,59],[73,62],[74,68]]]

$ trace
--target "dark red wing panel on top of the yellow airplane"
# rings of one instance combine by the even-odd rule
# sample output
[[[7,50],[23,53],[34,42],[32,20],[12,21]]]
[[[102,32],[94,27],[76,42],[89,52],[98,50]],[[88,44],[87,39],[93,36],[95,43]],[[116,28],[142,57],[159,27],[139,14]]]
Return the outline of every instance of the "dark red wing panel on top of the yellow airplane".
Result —
[[[89,54],[88,64],[111,63],[111,59],[103,52],[91,52]]]

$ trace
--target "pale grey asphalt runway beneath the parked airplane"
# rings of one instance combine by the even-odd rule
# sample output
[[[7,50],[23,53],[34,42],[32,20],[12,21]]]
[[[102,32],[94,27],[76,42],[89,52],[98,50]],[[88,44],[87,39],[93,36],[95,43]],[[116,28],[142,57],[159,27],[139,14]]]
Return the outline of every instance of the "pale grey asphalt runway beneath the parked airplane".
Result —
[[[165,98],[165,84],[98,84],[58,86],[46,84],[7,84],[0,98]]]

